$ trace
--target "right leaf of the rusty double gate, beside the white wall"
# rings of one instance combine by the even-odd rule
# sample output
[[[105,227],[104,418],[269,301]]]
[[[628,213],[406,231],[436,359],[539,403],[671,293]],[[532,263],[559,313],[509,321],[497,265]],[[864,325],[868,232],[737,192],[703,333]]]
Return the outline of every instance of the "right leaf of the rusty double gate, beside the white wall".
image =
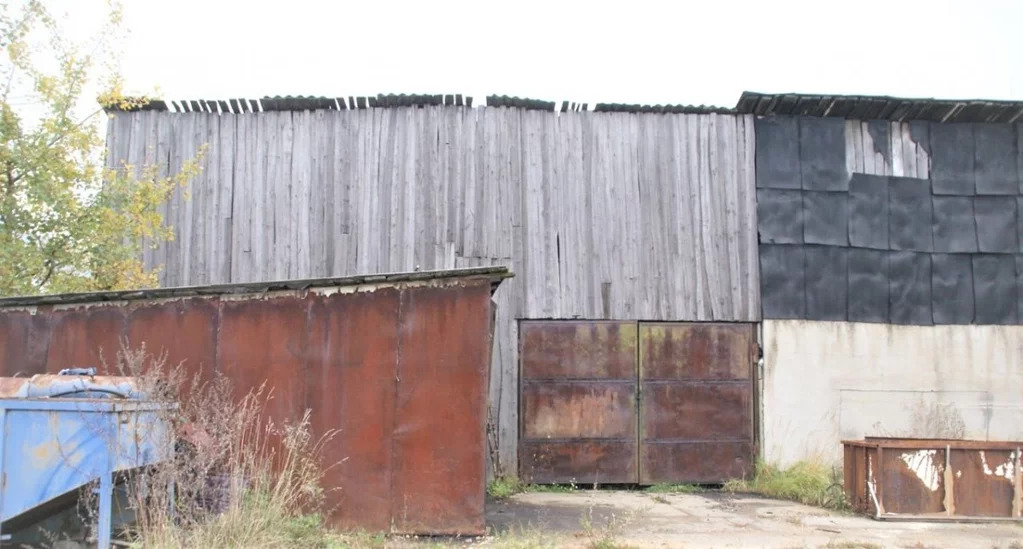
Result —
[[[752,472],[752,324],[639,324],[639,482]]]

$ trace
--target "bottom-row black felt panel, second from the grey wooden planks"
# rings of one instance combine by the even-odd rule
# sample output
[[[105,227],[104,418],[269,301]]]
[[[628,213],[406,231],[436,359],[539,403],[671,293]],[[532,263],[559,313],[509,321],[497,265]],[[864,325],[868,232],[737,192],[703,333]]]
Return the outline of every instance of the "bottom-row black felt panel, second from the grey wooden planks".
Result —
[[[805,246],[806,318],[845,320],[848,248]]]

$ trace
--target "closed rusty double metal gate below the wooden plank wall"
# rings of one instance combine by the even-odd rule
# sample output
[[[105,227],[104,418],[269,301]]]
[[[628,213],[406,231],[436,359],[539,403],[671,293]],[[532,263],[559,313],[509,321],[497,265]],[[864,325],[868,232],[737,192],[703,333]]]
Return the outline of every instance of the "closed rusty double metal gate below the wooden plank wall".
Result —
[[[520,476],[721,483],[751,472],[752,324],[522,321]]]

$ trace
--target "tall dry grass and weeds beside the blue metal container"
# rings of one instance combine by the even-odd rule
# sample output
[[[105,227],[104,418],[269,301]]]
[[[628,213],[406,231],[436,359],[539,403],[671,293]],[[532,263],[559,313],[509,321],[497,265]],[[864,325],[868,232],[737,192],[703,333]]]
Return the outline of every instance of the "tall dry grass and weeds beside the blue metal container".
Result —
[[[321,450],[332,433],[314,438],[309,412],[279,424],[267,413],[272,390],[235,396],[220,373],[189,376],[166,355],[122,345],[114,368],[134,376],[173,437],[171,456],[127,478],[134,527],[122,539],[140,547],[326,547],[321,520]]]

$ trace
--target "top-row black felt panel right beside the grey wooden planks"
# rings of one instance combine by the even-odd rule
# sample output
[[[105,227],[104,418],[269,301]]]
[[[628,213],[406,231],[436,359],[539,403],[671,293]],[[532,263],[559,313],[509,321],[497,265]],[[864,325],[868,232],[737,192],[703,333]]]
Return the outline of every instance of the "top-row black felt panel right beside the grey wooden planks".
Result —
[[[799,122],[795,118],[757,119],[757,187],[798,189]]]

